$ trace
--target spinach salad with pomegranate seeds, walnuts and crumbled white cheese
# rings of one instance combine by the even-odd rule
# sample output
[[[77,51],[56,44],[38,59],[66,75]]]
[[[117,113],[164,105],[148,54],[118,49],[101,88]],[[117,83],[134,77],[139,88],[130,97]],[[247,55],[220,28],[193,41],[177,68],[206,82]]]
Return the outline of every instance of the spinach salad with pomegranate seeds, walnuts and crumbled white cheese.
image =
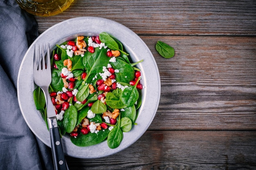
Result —
[[[49,94],[61,135],[69,134],[76,146],[107,140],[117,148],[123,132],[136,125],[141,106],[141,72],[123,44],[108,33],[78,36],[56,44]],[[43,91],[34,90],[36,109],[47,125]],[[48,125],[47,125],[48,127]]]

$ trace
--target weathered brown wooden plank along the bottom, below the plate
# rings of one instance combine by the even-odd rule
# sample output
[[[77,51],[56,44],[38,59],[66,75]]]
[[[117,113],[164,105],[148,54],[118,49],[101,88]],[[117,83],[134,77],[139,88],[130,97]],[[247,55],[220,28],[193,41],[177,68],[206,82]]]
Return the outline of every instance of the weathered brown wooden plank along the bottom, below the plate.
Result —
[[[67,164],[70,170],[256,169],[255,141],[256,131],[148,130],[115,155],[99,159],[67,157]]]

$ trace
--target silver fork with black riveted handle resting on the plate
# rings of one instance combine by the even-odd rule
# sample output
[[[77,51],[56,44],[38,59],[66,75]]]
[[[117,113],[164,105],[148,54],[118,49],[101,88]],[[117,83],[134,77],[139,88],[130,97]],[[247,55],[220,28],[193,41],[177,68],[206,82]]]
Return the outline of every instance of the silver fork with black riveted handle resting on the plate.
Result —
[[[55,109],[48,93],[49,85],[52,81],[51,61],[49,44],[47,43],[47,52],[45,55],[45,44],[35,44],[33,75],[34,82],[38,85],[45,95],[47,122],[49,125],[49,133],[51,138],[52,156],[54,159],[55,170],[67,170],[65,156],[61,144],[61,136],[58,130]]]

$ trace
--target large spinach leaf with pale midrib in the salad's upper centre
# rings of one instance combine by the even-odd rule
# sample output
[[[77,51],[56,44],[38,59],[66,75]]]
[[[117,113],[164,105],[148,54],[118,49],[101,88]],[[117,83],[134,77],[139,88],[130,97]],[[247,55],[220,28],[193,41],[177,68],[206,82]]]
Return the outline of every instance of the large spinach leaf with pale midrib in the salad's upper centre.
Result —
[[[102,72],[103,66],[107,66],[109,63],[109,57],[106,55],[107,49],[96,48],[94,53],[88,51],[85,52],[83,56],[83,64],[87,71],[87,76],[84,82],[91,82],[93,77],[97,73]]]

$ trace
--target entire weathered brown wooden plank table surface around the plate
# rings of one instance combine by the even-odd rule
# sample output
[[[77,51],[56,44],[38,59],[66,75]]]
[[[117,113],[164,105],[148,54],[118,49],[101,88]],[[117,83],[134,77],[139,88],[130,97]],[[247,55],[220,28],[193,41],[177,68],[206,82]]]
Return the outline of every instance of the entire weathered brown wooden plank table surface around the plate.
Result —
[[[70,170],[256,169],[255,0],[76,0],[36,17],[38,31],[80,16],[117,21],[144,40],[161,98],[135,144],[99,159],[67,156]],[[157,53],[158,40],[173,46],[173,58]]]

